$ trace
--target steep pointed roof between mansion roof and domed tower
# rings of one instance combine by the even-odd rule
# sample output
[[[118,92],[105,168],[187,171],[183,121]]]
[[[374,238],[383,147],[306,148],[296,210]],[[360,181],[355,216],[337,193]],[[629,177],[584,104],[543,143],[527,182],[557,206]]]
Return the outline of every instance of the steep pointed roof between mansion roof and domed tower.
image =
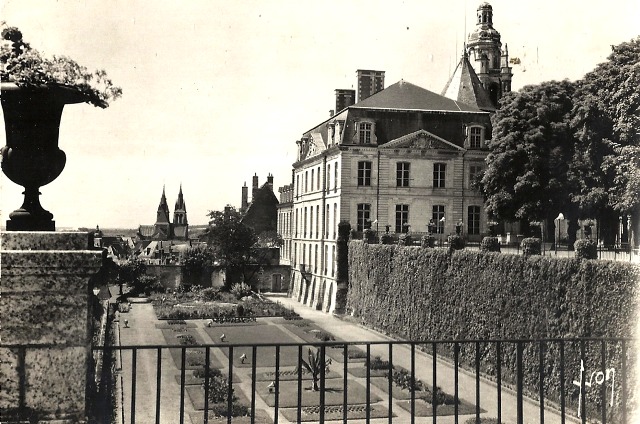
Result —
[[[496,110],[489,93],[473,70],[466,53],[462,55],[453,75],[442,90],[442,95],[488,112]]]

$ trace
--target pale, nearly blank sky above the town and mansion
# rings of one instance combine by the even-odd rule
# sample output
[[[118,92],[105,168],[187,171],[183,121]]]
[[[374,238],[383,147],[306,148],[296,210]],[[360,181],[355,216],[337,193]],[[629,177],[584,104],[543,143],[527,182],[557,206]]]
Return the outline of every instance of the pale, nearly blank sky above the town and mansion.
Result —
[[[269,173],[291,182],[295,141],[335,108],[357,69],[440,93],[480,1],[3,0],[0,16],[46,56],[105,69],[122,98],[62,115],[62,174],[41,187],[60,228],[153,224],[180,185],[190,224],[240,206]],[[637,0],[494,0],[512,89],[576,80],[640,35]],[[0,123],[4,138],[4,120]],[[2,145],[5,140],[0,140]],[[22,204],[0,176],[0,220]]]

